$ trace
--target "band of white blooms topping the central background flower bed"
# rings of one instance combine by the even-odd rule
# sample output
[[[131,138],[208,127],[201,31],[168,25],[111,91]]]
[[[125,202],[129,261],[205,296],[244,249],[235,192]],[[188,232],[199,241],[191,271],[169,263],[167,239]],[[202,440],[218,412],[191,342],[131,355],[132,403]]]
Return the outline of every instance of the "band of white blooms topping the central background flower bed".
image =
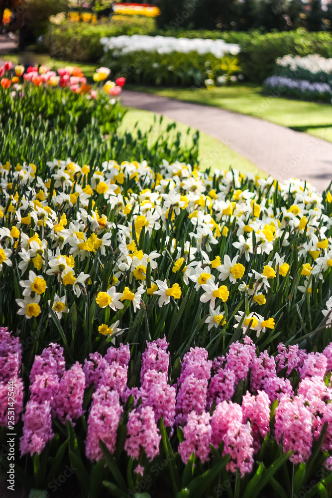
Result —
[[[225,54],[236,55],[240,51],[239,45],[226,43],[223,40],[203,40],[201,38],[174,38],[172,36],[112,36],[101,38],[104,51],[116,50],[120,54],[127,54],[137,50],[168,54],[171,52],[199,54],[213,54],[221,58]]]

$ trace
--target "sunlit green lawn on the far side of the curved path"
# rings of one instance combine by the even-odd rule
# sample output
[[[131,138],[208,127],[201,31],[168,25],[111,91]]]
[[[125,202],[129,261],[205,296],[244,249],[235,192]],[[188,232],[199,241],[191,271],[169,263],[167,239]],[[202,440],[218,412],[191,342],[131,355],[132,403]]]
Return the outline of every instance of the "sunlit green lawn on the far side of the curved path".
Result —
[[[133,85],[127,85],[126,88],[197,104],[221,107],[229,111],[272,121],[299,131],[306,131],[332,141],[332,106],[330,104],[263,95],[261,87],[257,85],[215,87],[210,90],[206,88],[191,90]]]

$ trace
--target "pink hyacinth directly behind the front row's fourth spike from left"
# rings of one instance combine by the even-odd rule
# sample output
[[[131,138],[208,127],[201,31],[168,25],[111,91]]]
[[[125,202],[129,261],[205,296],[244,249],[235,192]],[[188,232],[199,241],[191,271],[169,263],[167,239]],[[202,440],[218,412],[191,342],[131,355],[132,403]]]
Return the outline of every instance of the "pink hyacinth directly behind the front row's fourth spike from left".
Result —
[[[205,409],[207,390],[208,381],[205,378],[197,379],[194,373],[185,378],[176,397],[176,425],[184,426],[192,410],[201,413]]]

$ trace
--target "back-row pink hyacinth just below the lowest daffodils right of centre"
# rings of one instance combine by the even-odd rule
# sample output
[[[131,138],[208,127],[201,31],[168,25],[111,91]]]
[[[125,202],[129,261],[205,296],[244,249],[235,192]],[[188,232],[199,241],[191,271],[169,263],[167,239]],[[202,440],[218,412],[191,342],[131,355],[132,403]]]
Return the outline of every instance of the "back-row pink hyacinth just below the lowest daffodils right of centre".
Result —
[[[248,337],[248,339],[250,339]],[[256,358],[256,348],[252,343],[247,341],[246,344],[241,344],[238,341],[229,346],[229,351],[226,353],[226,366],[228,370],[232,370],[238,380],[244,380],[247,377],[249,369],[254,358]]]

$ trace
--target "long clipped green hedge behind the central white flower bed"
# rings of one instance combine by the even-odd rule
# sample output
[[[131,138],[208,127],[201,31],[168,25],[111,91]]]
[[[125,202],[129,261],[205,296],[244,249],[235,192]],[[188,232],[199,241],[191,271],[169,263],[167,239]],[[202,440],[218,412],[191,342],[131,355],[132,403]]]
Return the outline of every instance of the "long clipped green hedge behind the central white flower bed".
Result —
[[[149,19],[152,20],[152,19]],[[307,32],[300,28],[294,31],[261,33],[260,31],[186,31],[186,30],[156,30],[146,23],[140,27],[132,27],[125,31],[124,27],[108,24],[86,25],[68,23],[53,27],[52,55],[70,58],[77,61],[96,61],[103,55],[100,44],[102,36],[118,36],[121,34],[149,34],[188,38],[221,38],[228,43],[238,43],[240,66],[247,80],[261,83],[271,76],[275,68],[275,60],[287,54],[301,55],[319,54],[332,57],[332,34],[326,31]],[[170,64],[170,56],[165,60]],[[118,61],[117,61],[118,62]],[[127,58],[123,65],[127,64]],[[147,76],[147,80],[153,79]],[[148,82],[148,81],[146,81]]]

